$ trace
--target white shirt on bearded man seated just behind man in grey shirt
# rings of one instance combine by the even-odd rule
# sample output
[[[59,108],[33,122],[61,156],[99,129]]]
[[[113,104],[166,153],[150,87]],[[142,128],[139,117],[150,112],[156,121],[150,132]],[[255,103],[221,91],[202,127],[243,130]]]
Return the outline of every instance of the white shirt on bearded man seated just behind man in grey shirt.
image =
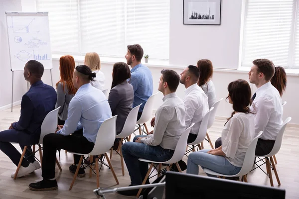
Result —
[[[185,94],[186,128],[194,122],[195,124],[191,128],[190,133],[197,135],[202,118],[209,111],[208,97],[197,83],[189,86],[185,90]]]

